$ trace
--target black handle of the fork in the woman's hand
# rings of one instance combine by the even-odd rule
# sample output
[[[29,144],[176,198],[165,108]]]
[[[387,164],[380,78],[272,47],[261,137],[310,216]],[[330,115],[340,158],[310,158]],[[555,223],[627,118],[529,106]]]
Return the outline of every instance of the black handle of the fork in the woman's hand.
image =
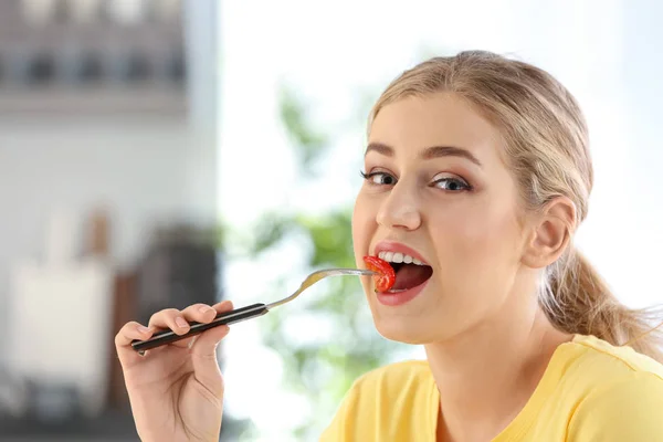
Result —
[[[189,325],[191,328],[183,335],[176,335],[172,330],[162,330],[155,333],[149,339],[139,340],[134,339],[131,347],[139,354],[144,354],[146,350],[151,348],[160,347],[167,344],[176,343],[181,339],[190,338],[191,336],[200,335],[204,330],[218,327],[220,325],[231,325],[241,320],[251,319],[253,317],[262,316],[267,313],[269,309],[264,304],[252,304],[246,307],[235,308],[234,311],[223,312],[217,315],[214,320],[209,324],[202,324],[191,322]]]

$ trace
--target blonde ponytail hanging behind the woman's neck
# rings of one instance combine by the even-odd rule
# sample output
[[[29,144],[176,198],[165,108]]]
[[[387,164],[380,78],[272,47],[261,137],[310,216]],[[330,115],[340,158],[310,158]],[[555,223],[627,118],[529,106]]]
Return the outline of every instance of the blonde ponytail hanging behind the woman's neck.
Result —
[[[663,362],[663,334],[657,328],[662,320],[660,314],[621,304],[576,249],[571,248],[551,266],[540,301],[548,318],[559,329],[593,335],[615,346],[629,345]]]

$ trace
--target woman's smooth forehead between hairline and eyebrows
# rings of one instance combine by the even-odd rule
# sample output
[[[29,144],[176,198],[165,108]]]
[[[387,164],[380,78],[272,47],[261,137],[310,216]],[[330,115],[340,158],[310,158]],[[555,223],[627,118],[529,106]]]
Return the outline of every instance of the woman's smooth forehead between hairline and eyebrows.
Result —
[[[502,138],[465,99],[438,93],[385,106],[372,123],[369,143],[392,146],[397,156],[415,156],[431,146],[460,147],[486,164],[499,161]]]

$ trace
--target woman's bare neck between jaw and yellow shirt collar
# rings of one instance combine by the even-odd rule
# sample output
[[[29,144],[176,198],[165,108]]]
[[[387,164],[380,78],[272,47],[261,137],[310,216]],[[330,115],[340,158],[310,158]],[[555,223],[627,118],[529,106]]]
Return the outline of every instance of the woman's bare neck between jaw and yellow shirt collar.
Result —
[[[491,440],[523,409],[555,351],[571,336],[524,297],[452,339],[425,345],[441,396],[443,441]],[[532,298],[528,296],[527,298]],[[514,316],[514,314],[516,316]]]

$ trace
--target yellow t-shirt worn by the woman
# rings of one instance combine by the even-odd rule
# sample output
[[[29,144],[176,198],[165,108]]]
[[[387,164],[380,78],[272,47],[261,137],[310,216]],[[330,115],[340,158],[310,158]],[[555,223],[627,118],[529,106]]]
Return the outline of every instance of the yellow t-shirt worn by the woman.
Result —
[[[490,373],[486,373],[490,375]],[[433,442],[440,392],[425,361],[359,378],[322,442]],[[576,335],[493,442],[663,442],[663,366],[630,347]]]

